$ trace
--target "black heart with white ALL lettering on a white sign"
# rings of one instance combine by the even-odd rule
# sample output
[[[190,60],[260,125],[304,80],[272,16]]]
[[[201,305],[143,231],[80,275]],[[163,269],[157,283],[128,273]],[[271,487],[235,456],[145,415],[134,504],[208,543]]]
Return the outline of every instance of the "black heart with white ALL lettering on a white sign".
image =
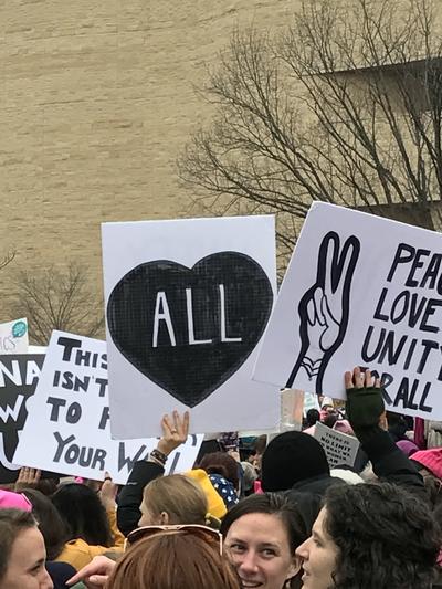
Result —
[[[110,293],[107,323],[133,366],[194,407],[248,359],[272,303],[260,264],[242,253],[221,252],[192,269],[168,260],[133,269]]]

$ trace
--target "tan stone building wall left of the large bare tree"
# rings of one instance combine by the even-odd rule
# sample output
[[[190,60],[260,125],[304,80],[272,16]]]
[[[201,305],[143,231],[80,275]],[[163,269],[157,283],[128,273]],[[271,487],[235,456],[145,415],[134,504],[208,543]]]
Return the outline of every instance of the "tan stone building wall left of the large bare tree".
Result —
[[[101,222],[186,215],[173,167],[204,117],[192,85],[236,23],[280,27],[295,6],[0,2],[0,255],[18,252],[3,278],[77,260],[101,283]]]

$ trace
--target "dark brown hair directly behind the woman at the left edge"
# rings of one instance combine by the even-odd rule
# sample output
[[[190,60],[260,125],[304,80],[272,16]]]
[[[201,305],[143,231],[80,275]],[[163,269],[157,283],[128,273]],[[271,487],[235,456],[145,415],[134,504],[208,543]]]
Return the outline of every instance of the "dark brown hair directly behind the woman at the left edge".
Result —
[[[66,543],[66,528],[62,516],[49,497],[34,488],[22,492],[32,503],[32,513],[44,538],[48,560],[55,560]]]

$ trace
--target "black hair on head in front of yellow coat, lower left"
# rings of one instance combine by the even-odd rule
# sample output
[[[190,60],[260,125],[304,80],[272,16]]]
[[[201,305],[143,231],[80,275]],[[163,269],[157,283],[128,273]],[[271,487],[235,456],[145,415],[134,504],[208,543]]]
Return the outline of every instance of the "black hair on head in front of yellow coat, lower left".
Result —
[[[85,485],[71,483],[52,496],[66,527],[67,540],[82,538],[90,545],[112,546],[106,509],[98,495]]]

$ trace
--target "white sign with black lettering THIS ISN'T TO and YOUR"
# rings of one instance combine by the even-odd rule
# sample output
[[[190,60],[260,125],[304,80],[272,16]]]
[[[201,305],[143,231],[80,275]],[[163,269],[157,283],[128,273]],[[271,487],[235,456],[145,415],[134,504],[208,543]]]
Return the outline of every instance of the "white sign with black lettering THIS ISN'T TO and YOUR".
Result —
[[[53,332],[28,419],[14,455],[17,464],[103,480],[108,471],[124,484],[135,461],[158,440],[115,441],[109,431],[106,343]],[[157,414],[159,421],[161,416]],[[190,435],[169,456],[167,472],[192,467],[202,435]]]

